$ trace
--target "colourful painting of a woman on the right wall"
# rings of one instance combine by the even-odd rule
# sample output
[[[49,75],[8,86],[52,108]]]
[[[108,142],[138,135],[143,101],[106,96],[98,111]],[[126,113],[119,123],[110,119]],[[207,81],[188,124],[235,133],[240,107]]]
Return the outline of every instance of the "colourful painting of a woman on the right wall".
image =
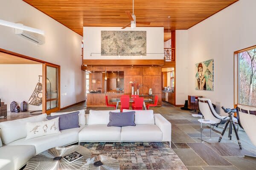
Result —
[[[195,64],[195,90],[213,91],[213,59]]]

